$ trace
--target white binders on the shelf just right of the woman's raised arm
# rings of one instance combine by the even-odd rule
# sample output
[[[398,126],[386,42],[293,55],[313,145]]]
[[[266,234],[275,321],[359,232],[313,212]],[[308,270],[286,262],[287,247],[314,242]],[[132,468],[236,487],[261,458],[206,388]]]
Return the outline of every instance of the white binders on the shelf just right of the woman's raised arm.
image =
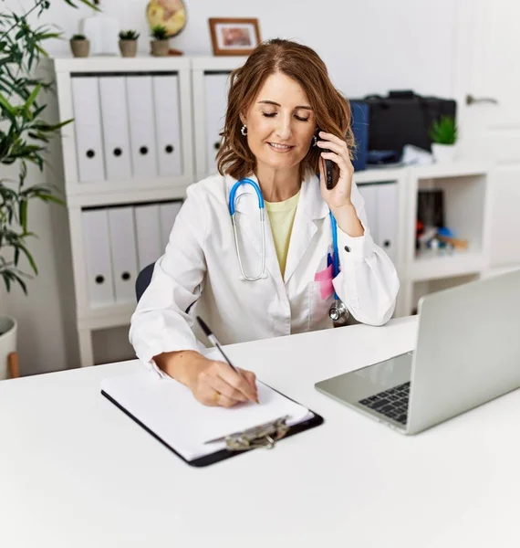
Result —
[[[392,261],[396,261],[399,212],[397,183],[359,184],[358,189],[365,200],[374,241]]]

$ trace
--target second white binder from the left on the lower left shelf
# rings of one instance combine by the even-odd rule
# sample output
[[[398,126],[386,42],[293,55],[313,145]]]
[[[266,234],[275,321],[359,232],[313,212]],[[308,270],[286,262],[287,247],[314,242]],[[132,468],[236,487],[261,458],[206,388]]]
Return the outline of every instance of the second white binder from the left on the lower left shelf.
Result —
[[[138,269],[131,207],[109,208],[109,234],[116,302],[134,302]]]

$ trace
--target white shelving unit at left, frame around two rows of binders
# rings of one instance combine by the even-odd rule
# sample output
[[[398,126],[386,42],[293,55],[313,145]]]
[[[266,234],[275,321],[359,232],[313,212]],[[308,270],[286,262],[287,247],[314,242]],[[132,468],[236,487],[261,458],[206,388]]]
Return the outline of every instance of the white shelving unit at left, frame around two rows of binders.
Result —
[[[131,313],[135,310],[135,298],[109,304],[93,304],[88,294],[88,269],[85,248],[85,234],[82,216],[88,209],[110,208],[123,205],[147,205],[182,200],[186,187],[194,181],[192,146],[192,81],[191,60],[189,58],[55,58],[47,59],[41,69],[52,74],[57,82],[57,111],[59,121],[75,117],[73,79],[106,79],[134,76],[148,78],[172,77],[176,85],[172,87],[172,109],[178,109],[178,142],[169,145],[168,153],[177,154],[180,166],[178,174],[109,178],[82,181],[78,170],[78,146],[75,124],[66,125],[61,132],[59,162],[63,165],[61,187],[67,204],[67,228],[74,285],[73,302],[78,332],[79,359],[82,366],[94,364],[92,332],[130,324]],[[114,98],[125,102],[122,93]],[[167,99],[167,98],[166,98]],[[176,103],[176,104],[175,104]],[[128,109],[127,109],[128,110]],[[95,113],[92,113],[95,116]],[[160,112],[156,116],[161,116]],[[157,118],[155,119],[157,123]],[[104,142],[107,145],[106,142]],[[159,147],[157,139],[157,161]],[[163,151],[162,151],[163,152]],[[105,168],[107,165],[105,151]],[[125,152],[123,152],[125,153]],[[130,153],[130,150],[128,151]],[[59,229],[63,229],[60,227]],[[132,235],[133,236],[133,235]],[[135,259],[134,259],[135,260]],[[139,268],[138,268],[139,270]],[[137,271],[128,283],[133,288]],[[70,314],[67,314],[68,317]]]

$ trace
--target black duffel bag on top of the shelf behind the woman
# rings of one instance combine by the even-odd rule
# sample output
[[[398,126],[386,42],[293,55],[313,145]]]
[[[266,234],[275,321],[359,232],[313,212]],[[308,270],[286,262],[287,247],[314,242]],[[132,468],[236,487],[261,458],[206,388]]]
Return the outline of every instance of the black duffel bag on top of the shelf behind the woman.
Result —
[[[399,155],[405,144],[432,150],[430,130],[442,116],[455,118],[454,100],[422,97],[413,91],[390,91],[388,97],[369,95],[369,151],[395,151]]]

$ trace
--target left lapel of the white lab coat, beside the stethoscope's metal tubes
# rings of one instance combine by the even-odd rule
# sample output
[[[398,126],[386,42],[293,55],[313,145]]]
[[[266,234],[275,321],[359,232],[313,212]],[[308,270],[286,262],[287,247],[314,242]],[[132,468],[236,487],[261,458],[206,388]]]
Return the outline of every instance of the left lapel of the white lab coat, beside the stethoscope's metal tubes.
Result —
[[[258,183],[255,175],[249,175],[249,179]],[[227,196],[229,200],[229,194],[233,185],[236,183],[236,179],[226,175]],[[247,276],[256,276],[260,271],[261,259],[262,259],[262,232],[260,225],[260,214],[258,210],[258,196],[251,184],[241,184],[236,191],[235,202],[235,222],[236,232],[238,235],[239,247],[241,255],[250,258],[251,253],[255,253],[253,260],[247,260],[244,262],[244,270]],[[253,246],[249,246],[251,243]],[[254,265],[251,270],[247,269],[245,263]],[[265,269],[269,271],[273,279],[279,282],[283,282],[282,274],[280,272],[280,265],[278,264],[278,258],[276,257],[275,242],[273,240],[273,233],[271,231],[271,224],[269,217],[265,211]]]

